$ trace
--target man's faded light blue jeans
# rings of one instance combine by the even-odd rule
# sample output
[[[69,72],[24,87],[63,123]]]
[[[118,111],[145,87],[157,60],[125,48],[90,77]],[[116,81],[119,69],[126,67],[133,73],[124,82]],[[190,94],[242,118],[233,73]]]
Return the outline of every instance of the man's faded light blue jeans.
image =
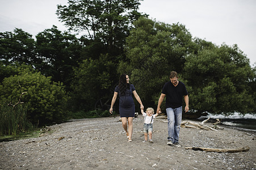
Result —
[[[167,108],[168,119],[168,141],[173,143],[179,141],[179,130],[181,129],[182,121],[182,107],[179,108]]]

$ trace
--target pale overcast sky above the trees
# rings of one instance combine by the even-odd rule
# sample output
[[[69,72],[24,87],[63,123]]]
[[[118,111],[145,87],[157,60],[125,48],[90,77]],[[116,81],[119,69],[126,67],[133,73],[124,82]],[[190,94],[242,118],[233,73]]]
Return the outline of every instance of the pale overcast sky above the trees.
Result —
[[[57,5],[68,0],[0,0],[0,32],[22,28],[35,36],[56,25],[66,30],[57,19]],[[255,0],[144,0],[140,12],[168,24],[181,23],[193,37],[216,45],[237,44],[256,63]]]

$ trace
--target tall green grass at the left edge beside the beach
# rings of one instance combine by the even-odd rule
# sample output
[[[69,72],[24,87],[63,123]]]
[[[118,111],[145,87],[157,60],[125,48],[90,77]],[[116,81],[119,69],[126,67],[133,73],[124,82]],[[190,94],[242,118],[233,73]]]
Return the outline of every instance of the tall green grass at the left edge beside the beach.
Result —
[[[18,104],[15,107],[0,104],[0,135],[19,135],[32,129],[26,114],[27,107],[24,104]]]

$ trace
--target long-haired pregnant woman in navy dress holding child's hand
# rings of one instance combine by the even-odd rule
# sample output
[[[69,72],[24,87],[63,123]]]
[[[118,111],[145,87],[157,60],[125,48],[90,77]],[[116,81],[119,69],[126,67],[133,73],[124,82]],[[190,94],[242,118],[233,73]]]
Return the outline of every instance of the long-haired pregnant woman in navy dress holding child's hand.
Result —
[[[129,76],[122,74],[119,78],[119,84],[115,88],[114,96],[111,101],[110,113],[113,112],[113,105],[115,104],[117,94],[119,94],[119,113],[124,130],[128,138],[128,142],[132,142],[132,130],[133,130],[133,117],[135,115],[135,104],[132,98],[132,94],[135,99],[140,103],[140,108],[144,109],[139,95],[135,91],[133,84],[129,84]],[[128,129],[127,129],[128,121]]]

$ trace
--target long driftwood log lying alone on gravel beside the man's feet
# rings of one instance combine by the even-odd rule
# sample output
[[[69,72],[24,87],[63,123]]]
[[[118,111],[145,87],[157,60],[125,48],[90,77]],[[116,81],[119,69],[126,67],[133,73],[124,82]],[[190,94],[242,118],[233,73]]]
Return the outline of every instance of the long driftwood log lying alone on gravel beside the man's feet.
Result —
[[[249,151],[250,147],[241,147],[241,148],[206,148],[206,147],[186,147],[186,149],[191,149],[195,151],[206,151],[206,152],[246,152]]]

